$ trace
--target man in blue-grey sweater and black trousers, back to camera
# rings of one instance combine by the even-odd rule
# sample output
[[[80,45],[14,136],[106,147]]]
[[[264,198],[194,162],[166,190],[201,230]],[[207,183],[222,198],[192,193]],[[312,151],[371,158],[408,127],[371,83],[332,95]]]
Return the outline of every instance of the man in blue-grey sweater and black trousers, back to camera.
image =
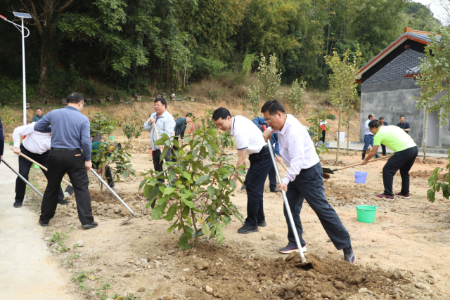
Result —
[[[34,130],[49,132],[51,126],[51,150],[49,152],[49,171],[47,188],[42,199],[39,224],[49,226],[49,221],[55,215],[58,203],[58,192],[63,176],[67,173],[75,191],[78,218],[82,228],[94,228],[94,221],[89,193],[88,171],[91,162],[91,124],[81,112],[84,98],[79,93],[71,93],[68,106],[61,110],[52,110],[39,122],[34,124]]]

